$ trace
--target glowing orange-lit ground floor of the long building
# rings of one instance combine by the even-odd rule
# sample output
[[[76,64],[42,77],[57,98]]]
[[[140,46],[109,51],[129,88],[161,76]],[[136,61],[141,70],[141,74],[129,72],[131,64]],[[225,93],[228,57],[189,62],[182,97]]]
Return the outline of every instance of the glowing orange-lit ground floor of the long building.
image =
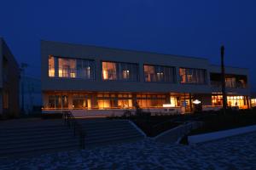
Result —
[[[230,107],[247,109],[249,98],[245,95],[228,94]],[[110,111],[134,110],[137,105],[143,110],[192,112],[201,106],[202,110],[219,109],[222,106],[221,94],[189,93],[110,93],[110,92],[44,92],[43,110]]]

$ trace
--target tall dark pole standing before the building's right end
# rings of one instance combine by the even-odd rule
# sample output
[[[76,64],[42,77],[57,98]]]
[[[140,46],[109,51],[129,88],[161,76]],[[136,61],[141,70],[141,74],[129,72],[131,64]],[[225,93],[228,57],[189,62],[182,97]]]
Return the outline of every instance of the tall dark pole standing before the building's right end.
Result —
[[[225,114],[226,113],[226,109],[227,109],[227,95],[226,95],[225,68],[224,68],[224,46],[221,46],[220,54],[221,54],[221,77],[222,77],[223,112]]]

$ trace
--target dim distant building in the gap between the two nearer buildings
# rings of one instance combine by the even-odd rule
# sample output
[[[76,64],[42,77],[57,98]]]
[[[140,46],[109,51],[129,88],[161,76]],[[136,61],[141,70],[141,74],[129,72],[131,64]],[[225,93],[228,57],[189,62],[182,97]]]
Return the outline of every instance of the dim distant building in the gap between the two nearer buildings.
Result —
[[[20,78],[20,108],[25,114],[36,114],[42,108],[41,80],[37,77],[22,76]],[[22,102],[23,100],[23,102]]]

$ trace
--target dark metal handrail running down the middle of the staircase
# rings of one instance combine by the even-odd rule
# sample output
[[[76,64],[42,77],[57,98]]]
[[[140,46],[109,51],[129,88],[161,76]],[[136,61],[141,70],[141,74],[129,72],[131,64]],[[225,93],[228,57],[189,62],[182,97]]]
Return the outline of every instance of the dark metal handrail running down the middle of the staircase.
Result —
[[[71,111],[63,111],[63,119],[65,124],[67,124],[67,127],[73,128],[74,136],[79,134],[80,148],[84,150],[85,133],[83,131],[83,127],[76,121]]]

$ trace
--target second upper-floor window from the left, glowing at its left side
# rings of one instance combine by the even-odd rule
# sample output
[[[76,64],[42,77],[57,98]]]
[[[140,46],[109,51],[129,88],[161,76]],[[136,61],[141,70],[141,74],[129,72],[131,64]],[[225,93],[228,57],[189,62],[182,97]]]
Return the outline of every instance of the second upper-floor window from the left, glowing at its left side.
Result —
[[[137,64],[119,63],[119,62],[102,62],[102,79],[103,80],[124,80],[138,81]]]

